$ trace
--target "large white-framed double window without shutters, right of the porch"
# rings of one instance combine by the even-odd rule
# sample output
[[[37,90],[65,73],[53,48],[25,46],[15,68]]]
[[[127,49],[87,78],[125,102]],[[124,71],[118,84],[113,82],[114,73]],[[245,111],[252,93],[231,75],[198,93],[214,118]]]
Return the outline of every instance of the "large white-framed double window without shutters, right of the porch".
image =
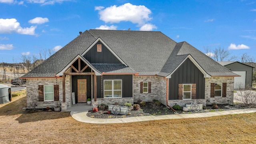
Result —
[[[104,80],[104,98],[122,97],[122,80]]]

